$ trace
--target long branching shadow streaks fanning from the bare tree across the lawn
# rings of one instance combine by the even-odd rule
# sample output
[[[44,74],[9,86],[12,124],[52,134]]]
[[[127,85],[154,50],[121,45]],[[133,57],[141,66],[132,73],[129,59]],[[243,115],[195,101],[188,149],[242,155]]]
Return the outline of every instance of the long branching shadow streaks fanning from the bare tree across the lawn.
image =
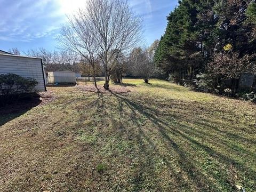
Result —
[[[189,178],[188,182],[192,183],[191,186],[186,186],[187,183],[183,182],[183,185],[186,186],[186,188],[188,188],[189,190],[191,190],[190,187],[192,186],[194,186],[196,189],[204,191],[211,191],[217,189],[218,186],[216,185],[221,185],[222,187],[225,187],[228,190],[236,190],[236,188],[235,183],[233,183],[235,181],[229,181],[228,177],[225,176],[226,173],[223,174],[223,176],[212,176],[215,180],[217,180],[217,183],[213,183],[211,180],[209,180],[209,178],[207,178],[205,174],[211,175],[211,172],[201,172],[201,167],[198,167],[198,164],[196,165],[196,162],[194,162],[193,159],[191,159],[191,157],[193,157],[193,154],[190,154],[191,152],[189,153],[189,151],[186,151],[186,146],[182,146],[180,145],[179,142],[174,141],[177,140],[177,138],[181,139],[182,142],[189,143],[190,147],[197,148],[199,151],[204,151],[204,153],[207,154],[206,156],[208,158],[215,159],[215,162],[221,162],[225,167],[229,167],[230,165],[235,166],[236,169],[239,170],[240,173],[243,173],[246,178],[253,180],[252,175],[255,175],[256,172],[253,169],[251,169],[251,167],[248,167],[243,163],[238,162],[236,159],[230,158],[230,156],[228,155],[228,153],[241,155],[239,154],[239,149],[236,149],[236,147],[226,145],[226,142],[221,141],[220,138],[214,138],[217,141],[220,140],[221,142],[219,142],[217,145],[225,147],[225,152],[228,152],[227,155],[226,153],[222,154],[216,150],[218,149],[218,146],[212,147],[209,145],[211,143],[210,141],[208,141],[208,143],[202,142],[205,138],[209,138],[210,135],[202,134],[202,132],[196,132],[196,130],[193,130],[193,127],[183,126],[183,124],[181,124],[179,121],[170,121],[170,119],[166,118],[165,115],[161,115],[161,113],[157,109],[151,108],[146,105],[142,105],[141,100],[136,100],[134,98],[130,99],[127,97],[123,97],[123,95],[115,93],[113,94],[119,101],[119,110],[121,111],[121,113],[123,111],[123,106],[125,105],[129,107],[133,111],[133,113],[139,113],[142,116],[145,116],[151,122],[153,122],[153,124],[158,130],[159,135],[161,135],[161,139],[165,142],[166,149],[174,151],[174,153],[179,157],[179,166],[180,169],[182,170],[181,174]],[[138,140],[146,139],[148,143],[151,145],[151,147],[155,148],[155,151],[157,151],[157,148],[154,145],[154,141],[151,140],[145,133],[143,133],[143,130],[141,129],[141,124],[138,123],[140,122],[139,120],[140,119],[136,119],[135,116],[134,119],[132,120],[135,124],[137,124],[137,127],[140,132],[140,135],[137,135]],[[218,130],[214,128],[207,128],[212,131],[218,132]],[[226,136],[228,137],[228,135]],[[147,149],[141,149],[141,151],[145,150]],[[197,153],[198,151],[195,152]],[[158,153],[158,156],[161,156],[161,153]],[[169,167],[171,167],[171,164]],[[221,170],[219,171],[221,172]],[[174,178],[177,179],[178,183],[182,183],[182,180],[180,180],[180,175],[175,174],[175,170],[170,170],[170,172],[172,172]]]

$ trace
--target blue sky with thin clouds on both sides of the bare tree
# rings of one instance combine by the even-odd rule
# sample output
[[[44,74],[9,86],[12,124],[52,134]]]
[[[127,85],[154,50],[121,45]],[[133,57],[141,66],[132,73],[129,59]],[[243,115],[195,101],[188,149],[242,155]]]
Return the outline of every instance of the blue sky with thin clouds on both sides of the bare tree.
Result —
[[[20,51],[45,47],[54,50],[66,15],[86,0],[0,0],[0,50],[18,47]],[[164,33],[166,16],[178,0],[129,0],[135,13],[144,18],[147,45]]]

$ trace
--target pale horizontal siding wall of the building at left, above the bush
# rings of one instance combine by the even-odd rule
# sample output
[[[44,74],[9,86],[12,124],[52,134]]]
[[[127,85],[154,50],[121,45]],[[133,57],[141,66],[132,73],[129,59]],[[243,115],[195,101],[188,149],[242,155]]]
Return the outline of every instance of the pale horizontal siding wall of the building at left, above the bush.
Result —
[[[45,91],[41,59],[17,55],[0,54],[0,74],[13,73],[22,77],[35,78],[37,91]]]

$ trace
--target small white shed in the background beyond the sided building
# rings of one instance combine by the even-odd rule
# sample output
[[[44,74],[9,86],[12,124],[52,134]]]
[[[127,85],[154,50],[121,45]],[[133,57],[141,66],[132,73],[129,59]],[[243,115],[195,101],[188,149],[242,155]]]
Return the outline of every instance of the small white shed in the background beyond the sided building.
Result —
[[[76,83],[76,73],[68,70],[48,72],[47,83]]]

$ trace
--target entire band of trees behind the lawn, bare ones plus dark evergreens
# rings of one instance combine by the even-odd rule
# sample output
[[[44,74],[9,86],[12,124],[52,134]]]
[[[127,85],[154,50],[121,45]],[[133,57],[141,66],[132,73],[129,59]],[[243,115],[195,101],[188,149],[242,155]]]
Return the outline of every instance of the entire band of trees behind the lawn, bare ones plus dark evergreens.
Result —
[[[146,83],[162,77],[233,97],[245,90],[242,95],[256,100],[255,20],[255,1],[183,0],[167,17],[161,39],[143,47],[142,19],[127,2],[93,0],[61,29],[62,51],[39,48],[25,54],[42,58],[46,71],[105,76],[106,89],[110,79],[121,83],[125,75]],[[17,48],[9,52],[20,54]]]

